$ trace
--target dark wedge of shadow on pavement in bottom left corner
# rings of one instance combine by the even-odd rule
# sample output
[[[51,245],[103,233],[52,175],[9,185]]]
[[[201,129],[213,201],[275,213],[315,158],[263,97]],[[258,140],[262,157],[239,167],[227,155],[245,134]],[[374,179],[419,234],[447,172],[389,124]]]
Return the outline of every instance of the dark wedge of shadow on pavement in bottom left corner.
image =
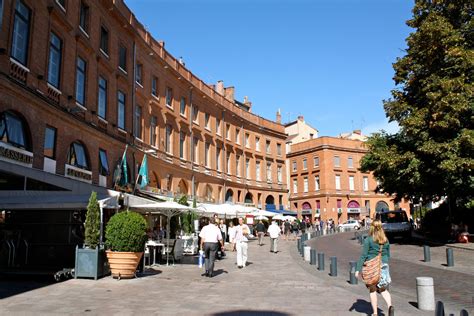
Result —
[[[28,291],[33,291],[56,283],[52,275],[49,276],[2,276],[0,278],[0,300]]]

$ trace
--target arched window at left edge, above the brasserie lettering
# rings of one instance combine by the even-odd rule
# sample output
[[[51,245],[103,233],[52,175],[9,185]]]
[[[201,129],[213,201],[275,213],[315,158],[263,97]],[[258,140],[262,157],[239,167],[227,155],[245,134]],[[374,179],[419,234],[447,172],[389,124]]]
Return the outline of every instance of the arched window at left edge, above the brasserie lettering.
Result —
[[[0,114],[0,140],[31,151],[26,122],[19,115],[6,111]]]

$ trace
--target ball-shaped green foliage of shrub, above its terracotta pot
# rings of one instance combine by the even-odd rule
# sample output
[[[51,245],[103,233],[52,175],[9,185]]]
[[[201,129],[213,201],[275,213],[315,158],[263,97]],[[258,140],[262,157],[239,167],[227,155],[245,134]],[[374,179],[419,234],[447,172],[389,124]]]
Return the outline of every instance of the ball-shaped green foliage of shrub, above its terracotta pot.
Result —
[[[138,213],[125,211],[112,216],[107,223],[105,238],[112,251],[142,252],[146,236],[146,220]]]

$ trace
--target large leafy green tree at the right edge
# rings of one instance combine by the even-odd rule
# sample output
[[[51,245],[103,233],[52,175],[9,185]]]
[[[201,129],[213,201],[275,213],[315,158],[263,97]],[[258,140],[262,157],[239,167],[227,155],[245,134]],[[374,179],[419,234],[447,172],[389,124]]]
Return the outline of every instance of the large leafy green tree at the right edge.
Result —
[[[394,63],[384,101],[398,133],[374,134],[361,170],[401,198],[467,206],[473,198],[474,22],[472,0],[416,0],[406,55]],[[472,205],[472,202],[471,202]]]

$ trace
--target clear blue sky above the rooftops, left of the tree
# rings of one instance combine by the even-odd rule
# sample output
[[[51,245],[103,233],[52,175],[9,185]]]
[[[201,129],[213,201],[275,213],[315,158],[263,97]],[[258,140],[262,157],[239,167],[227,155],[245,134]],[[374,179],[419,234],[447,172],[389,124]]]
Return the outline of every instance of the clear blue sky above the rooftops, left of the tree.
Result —
[[[387,125],[382,100],[411,32],[408,0],[126,0],[157,40],[252,112],[303,115],[320,136]]]

